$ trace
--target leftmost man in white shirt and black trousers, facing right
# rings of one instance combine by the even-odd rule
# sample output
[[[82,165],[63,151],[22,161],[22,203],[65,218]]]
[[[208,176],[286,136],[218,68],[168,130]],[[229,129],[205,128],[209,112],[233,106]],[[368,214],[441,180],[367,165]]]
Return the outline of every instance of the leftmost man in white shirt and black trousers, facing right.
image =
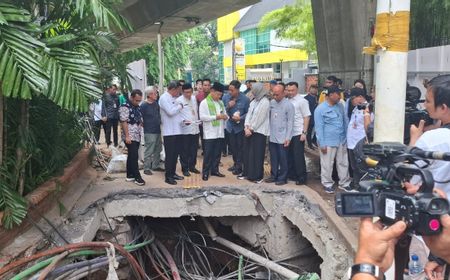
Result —
[[[164,137],[164,150],[166,152],[165,169],[167,184],[176,185],[177,181],[184,177],[175,173],[177,160],[181,149],[181,123],[183,117],[181,111],[183,104],[180,104],[178,98],[178,84],[172,81],[167,86],[165,92],[159,99],[161,109],[161,124]]]

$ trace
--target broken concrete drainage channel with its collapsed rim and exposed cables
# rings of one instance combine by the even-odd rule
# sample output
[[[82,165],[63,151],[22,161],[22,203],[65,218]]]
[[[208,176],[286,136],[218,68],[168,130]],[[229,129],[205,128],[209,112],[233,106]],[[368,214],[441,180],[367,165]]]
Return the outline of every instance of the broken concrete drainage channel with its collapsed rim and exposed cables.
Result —
[[[309,188],[135,189],[73,209],[62,232],[72,242],[154,236],[157,242],[136,253],[151,279],[176,279],[171,267],[181,279],[289,279],[261,259],[298,275],[342,279],[355,244],[326,204]]]

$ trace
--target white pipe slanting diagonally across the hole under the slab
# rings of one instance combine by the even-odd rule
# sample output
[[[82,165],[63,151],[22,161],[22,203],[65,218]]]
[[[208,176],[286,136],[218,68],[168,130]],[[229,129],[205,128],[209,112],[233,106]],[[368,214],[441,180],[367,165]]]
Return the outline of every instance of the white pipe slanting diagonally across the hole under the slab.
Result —
[[[219,244],[222,244],[223,246],[230,248],[239,254],[246,256],[247,258],[259,263],[260,265],[280,274],[281,276],[286,277],[287,279],[299,279],[300,275],[295,273],[292,270],[289,270],[285,267],[282,267],[281,265],[267,259],[264,257],[261,257],[258,254],[253,253],[252,251],[249,251],[245,249],[244,247],[241,247],[231,241],[228,241],[220,236],[217,235],[216,231],[212,227],[212,225],[208,222],[207,219],[202,218],[203,223],[205,224],[206,229],[208,230],[209,235],[211,236],[212,240],[216,241]]]

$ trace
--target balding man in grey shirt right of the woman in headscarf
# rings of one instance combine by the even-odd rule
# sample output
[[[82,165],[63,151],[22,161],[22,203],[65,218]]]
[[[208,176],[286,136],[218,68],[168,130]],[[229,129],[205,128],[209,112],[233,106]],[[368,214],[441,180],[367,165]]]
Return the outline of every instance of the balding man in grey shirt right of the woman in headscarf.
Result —
[[[273,100],[270,101],[270,177],[267,183],[285,185],[288,174],[288,151],[294,125],[294,105],[285,98],[284,86],[273,88]]]

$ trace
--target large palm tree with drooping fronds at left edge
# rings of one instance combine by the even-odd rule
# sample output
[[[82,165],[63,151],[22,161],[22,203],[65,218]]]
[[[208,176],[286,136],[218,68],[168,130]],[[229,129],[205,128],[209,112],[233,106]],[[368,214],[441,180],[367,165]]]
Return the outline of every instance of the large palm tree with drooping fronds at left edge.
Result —
[[[65,151],[73,152],[67,148],[56,151],[63,155],[55,153],[57,139],[47,139],[48,150],[37,149],[45,145],[36,141],[34,128],[49,118],[64,119],[64,112],[87,111],[89,100],[100,96],[101,73],[114,67],[109,58],[118,49],[112,32],[130,29],[117,13],[117,4],[117,0],[0,3],[0,126],[4,128],[0,137],[0,210],[5,213],[6,227],[24,217],[26,205],[21,195],[34,187],[34,171],[51,175],[64,166],[65,161],[61,164],[60,160]],[[46,109],[43,99],[57,106]],[[44,106],[38,107],[37,113],[36,104]],[[69,115],[74,118],[73,113]],[[55,123],[52,128],[64,131],[63,127]],[[66,139],[64,135],[71,134],[72,128],[55,137]],[[80,143],[81,135],[76,135],[78,139],[71,141]],[[58,165],[44,160],[44,169],[33,168],[37,155],[53,158]]]

